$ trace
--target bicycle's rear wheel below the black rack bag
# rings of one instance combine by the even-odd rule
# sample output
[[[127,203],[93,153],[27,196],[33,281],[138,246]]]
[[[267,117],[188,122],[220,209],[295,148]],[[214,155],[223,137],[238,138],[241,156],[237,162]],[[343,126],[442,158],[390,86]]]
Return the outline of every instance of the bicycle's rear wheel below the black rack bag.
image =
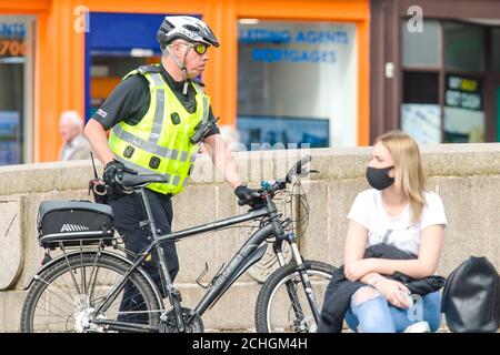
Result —
[[[107,254],[74,254],[43,271],[31,286],[21,314],[21,331],[113,332],[158,328],[161,306],[138,271],[132,272],[106,310],[94,314],[130,265]],[[128,327],[129,326],[129,327]]]

